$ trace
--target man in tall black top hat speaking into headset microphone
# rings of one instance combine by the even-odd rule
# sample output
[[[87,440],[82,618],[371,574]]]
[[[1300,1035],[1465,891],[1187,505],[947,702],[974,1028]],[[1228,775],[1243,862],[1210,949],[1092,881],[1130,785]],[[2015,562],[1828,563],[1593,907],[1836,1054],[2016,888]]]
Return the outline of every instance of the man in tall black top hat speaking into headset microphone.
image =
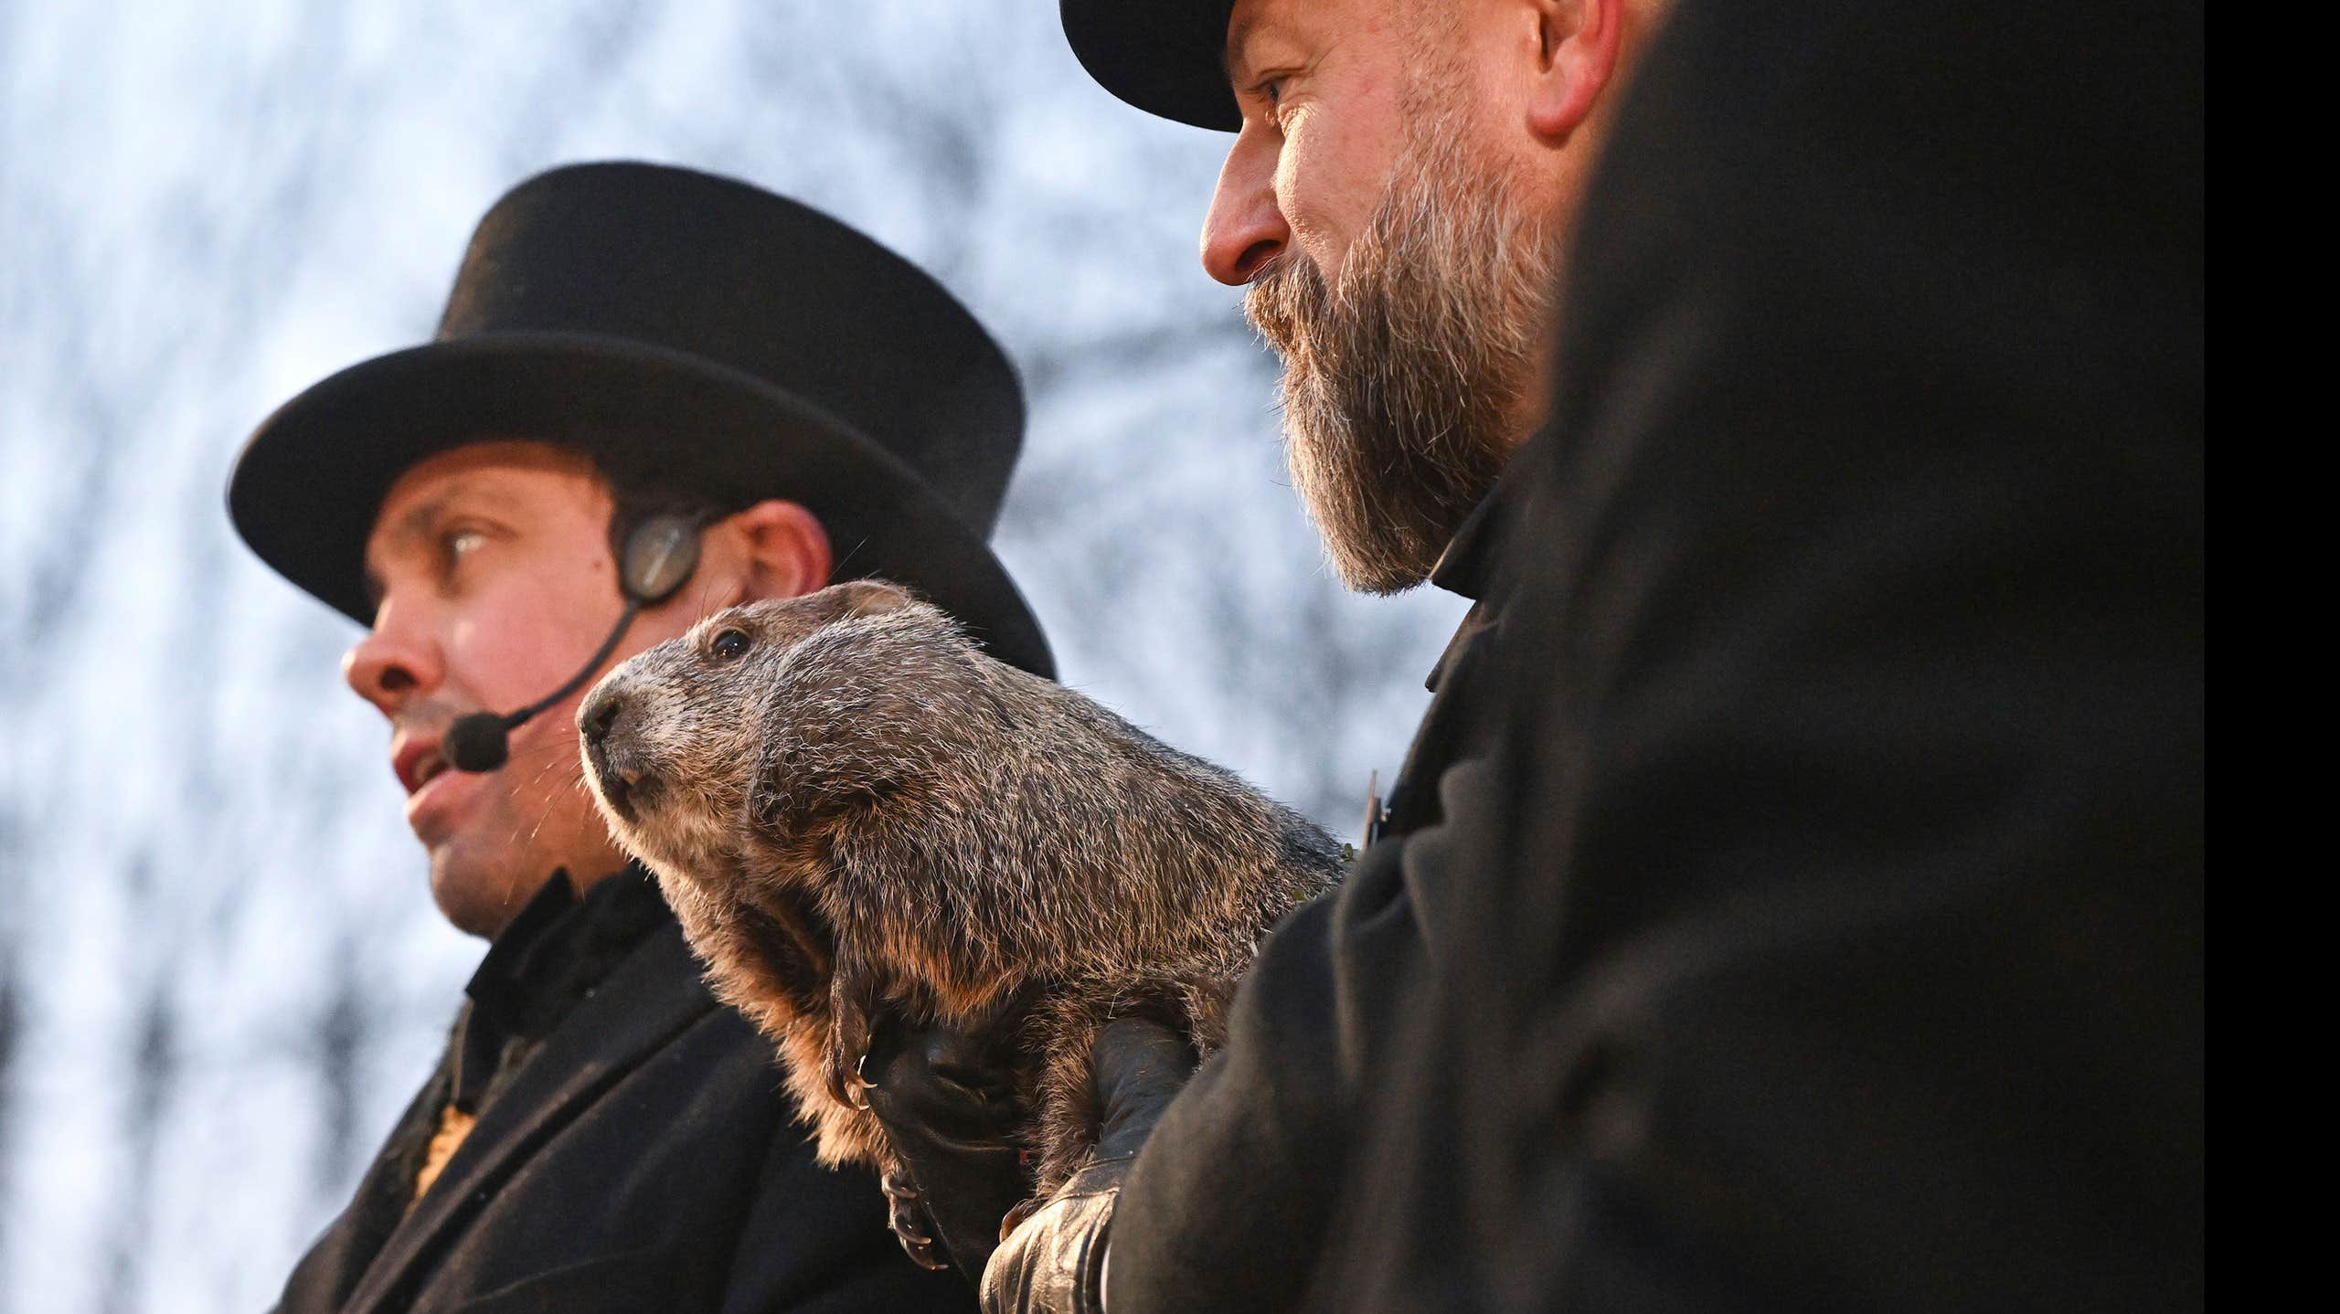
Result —
[[[1051,673],[985,547],[1020,428],[999,346],[922,271],[793,201],[646,164],[512,189],[431,344],[260,426],[236,531],[367,627],[344,673],[391,725],[431,895],[489,940],[288,1314],[969,1300],[901,1253],[868,1174],[812,1162],[770,1045],[707,994],[578,788],[580,694],[473,769],[445,739],[723,606],[878,573]],[[636,610],[618,561],[653,517],[697,559]]]

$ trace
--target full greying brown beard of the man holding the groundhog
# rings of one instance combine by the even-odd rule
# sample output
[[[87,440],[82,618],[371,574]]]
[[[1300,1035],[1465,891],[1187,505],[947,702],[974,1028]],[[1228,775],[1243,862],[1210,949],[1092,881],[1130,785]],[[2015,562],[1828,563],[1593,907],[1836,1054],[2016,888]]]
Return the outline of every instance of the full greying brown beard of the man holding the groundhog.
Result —
[[[1451,117],[1409,133],[1336,285],[1287,248],[1243,299],[1285,360],[1292,484],[1369,594],[1430,578],[1526,437],[1542,367],[1556,243],[1462,138]]]

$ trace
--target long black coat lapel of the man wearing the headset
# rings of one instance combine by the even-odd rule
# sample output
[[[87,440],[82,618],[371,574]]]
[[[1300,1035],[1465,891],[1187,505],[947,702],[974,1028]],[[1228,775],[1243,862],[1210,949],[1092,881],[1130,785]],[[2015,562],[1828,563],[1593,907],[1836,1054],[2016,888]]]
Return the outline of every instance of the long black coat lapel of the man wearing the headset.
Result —
[[[480,1115],[414,1213],[381,1246],[346,1314],[405,1307],[449,1232],[503,1178],[714,1005],[681,928],[667,921],[653,931]]]

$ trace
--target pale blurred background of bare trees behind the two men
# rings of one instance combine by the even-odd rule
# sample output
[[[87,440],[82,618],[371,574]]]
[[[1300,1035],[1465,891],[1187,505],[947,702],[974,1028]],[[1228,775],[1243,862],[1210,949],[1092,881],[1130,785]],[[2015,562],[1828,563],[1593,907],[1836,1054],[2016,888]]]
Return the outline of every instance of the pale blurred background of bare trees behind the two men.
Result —
[[[957,290],[1065,678],[1350,835],[1460,606],[1320,566],[1193,257],[1224,145],[1048,0],[0,0],[0,1312],[267,1307],[440,1045],[480,945],[222,486],[538,168],[732,173]]]

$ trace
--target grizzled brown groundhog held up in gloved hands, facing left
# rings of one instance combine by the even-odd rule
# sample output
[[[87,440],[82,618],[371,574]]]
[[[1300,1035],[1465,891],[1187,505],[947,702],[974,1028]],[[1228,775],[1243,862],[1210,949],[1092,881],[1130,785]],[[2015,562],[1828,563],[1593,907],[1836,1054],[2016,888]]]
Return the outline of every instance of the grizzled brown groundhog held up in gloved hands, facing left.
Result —
[[[1142,1015],[1210,1052],[1261,935],[1341,877],[1299,814],[873,580],[702,620],[578,729],[828,1164],[899,1167],[856,1071],[887,1010],[997,1038],[1046,1195],[1097,1136],[1097,1029]]]

